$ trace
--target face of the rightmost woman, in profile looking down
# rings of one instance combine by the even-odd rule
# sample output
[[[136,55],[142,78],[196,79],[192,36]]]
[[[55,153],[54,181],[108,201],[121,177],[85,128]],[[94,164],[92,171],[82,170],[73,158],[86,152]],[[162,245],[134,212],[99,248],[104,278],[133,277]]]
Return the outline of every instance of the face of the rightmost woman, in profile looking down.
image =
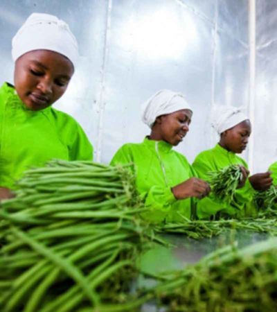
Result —
[[[248,139],[251,135],[251,123],[244,120],[235,127],[226,130],[220,137],[220,145],[233,153],[240,154],[247,148]]]

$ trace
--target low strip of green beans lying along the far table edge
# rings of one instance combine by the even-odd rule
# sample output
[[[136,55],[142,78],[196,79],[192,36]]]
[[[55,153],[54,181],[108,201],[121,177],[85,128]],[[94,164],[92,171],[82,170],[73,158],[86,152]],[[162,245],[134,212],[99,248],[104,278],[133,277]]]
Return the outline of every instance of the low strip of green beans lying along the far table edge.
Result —
[[[228,219],[228,220],[187,220],[167,223],[156,227],[157,232],[183,234],[191,239],[204,239],[218,236],[229,229],[242,229],[249,232],[268,233],[277,236],[277,219],[268,217]]]

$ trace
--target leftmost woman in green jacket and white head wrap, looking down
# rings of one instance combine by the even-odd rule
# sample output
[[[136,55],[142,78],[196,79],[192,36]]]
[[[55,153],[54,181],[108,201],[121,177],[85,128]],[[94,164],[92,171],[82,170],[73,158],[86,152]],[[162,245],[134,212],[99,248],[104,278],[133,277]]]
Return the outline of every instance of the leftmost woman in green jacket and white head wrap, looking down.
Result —
[[[0,88],[0,198],[10,196],[31,166],[93,155],[80,125],[51,107],[66,91],[78,58],[69,26],[33,13],[12,39],[12,58],[15,85]]]

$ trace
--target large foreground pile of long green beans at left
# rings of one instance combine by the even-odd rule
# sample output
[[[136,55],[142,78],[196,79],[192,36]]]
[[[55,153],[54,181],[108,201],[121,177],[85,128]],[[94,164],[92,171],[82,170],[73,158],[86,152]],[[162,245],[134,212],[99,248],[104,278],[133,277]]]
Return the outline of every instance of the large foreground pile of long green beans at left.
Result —
[[[0,207],[0,311],[68,312],[120,302],[150,241],[126,168],[52,161]]]

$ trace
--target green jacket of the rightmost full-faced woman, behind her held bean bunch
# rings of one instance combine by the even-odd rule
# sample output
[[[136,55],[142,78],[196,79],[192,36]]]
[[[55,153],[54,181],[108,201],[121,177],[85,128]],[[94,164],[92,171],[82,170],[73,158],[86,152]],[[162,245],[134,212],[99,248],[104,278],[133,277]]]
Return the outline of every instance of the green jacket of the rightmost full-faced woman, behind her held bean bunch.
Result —
[[[211,150],[204,150],[200,153],[193,162],[193,168],[200,178],[208,180],[209,171],[219,171],[221,168],[232,164],[239,164],[248,168],[244,159],[217,144]],[[253,193],[254,189],[248,179],[244,187],[235,191],[235,199],[231,204],[215,200],[213,193],[210,193],[211,195],[197,202],[197,216],[198,218],[209,218],[217,214],[217,211],[221,211],[221,214],[238,217],[252,214]]]

